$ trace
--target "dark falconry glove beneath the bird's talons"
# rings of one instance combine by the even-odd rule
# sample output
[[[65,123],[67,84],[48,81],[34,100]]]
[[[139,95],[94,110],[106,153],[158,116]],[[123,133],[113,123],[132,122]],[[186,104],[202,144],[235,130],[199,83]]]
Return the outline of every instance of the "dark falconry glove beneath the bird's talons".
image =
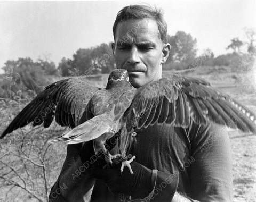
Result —
[[[171,201],[178,187],[178,174],[166,174],[151,170],[137,162],[130,165],[134,174],[125,167],[122,174],[119,166],[102,169],[100,159],[93,164],[92,174],[103,179],[108,189],[114,193],[123,193],[132,199],[145,201]],[[161,190],[161,191],[160,191]]]

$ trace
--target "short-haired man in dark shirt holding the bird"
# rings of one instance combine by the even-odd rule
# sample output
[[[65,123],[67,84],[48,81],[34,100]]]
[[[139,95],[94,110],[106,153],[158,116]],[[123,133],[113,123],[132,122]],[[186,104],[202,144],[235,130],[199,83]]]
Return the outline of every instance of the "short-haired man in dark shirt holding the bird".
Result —
[[[115,62],[129,71],[135,88],[162,77],[171,48],[166,31],[162,12],[150,6],[127,6],[117,14]],[[90,142],[69,145],[50,201],[121,201],[121,196],[134,201],[232,201],[225,129],[215,124],[192,124],[188,129],[154,125],[136,132],[127,153],[136,156],[131,163],[134,175],[126,168],[122,175],[118,167],[102,169],[91,157]]]

